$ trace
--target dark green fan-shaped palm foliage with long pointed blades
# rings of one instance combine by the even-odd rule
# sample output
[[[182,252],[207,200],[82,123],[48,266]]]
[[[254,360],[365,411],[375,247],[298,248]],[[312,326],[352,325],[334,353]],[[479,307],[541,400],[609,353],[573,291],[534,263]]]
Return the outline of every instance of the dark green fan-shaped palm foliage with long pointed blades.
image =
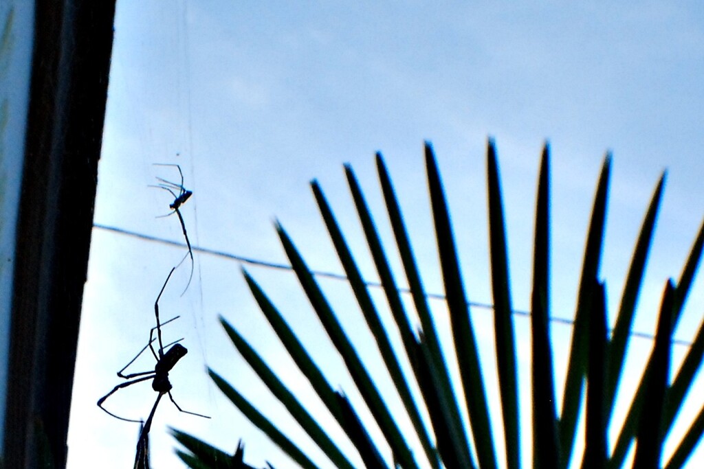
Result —
[[[344,430],[346,438],[353,444],[364,465],[368,468],[415,469],[420,466],[436,469],[474,469],[504,467],[520,469],[524,448],[520,442],[521,430],[532,426],[533,466],[536,468],[565,469],[574,463],[574,442],[579,428],[579,411],[584,402],[584,434],[586,444],[581,461],[582,469],[620,468],[626,452],[637,440],[634,467],[660,467],[662,447],[670,433],[672,423],[682,408],[694,378],[702,368],[704,360],[704,325],[700,326],[696,338],[674,380],[667,380],[672,354],[672,330],[677,326],[686,297],[691,290],[693,278],[704,250],[704,224],[691,248],[679,281],[668,282],[662,297],[658,316],[655,344],[644,368],[641,382],[634,392],[624,425],[613,442],[609,452],[608,435],[615,411],[615,395],[623,380],[631,326],[634,321],[639,293],[648,258],[648,251],[655,231],[655,220],[662,199],[665,175],[658,182],[645,219],[641,226],[634,248],[631,265],[624,283],[620,307],[616,315],[615,328],[608,334],[607,301],[605,282],[599,280],[602,246],[605,233],[605,219],[608,200],[608,186],[612,158],[607,155],[601,168],[596,195],[593,200],[589,230],[586,233],[586,246],[582,272],[577,293],[577,308],[574,313],[574,326],[567,370],[565,390],[562,394],[561,411],[558,413],[558,399],[555,396],[555,370],[553,369],[553,349],[550,335],[551,322],[551,214],[550,214],[550,162],[549,147],[546,144],[541,158],[538,196],[536,203],[536,223],[533,252],[533,285],[531,293],[531,341],[532,341],[532,422],[521,423],[518,386],[517,358],[519,349],[515,338],[513,305],[510,288],[507,233],[503,213],[501,181],[496,158],[494,141],[487,144],[487,200],[489,213],[489,250],[491,268],[491,289],[494,297],[494,340],[496,347],[496,367],[498,394],[501,402],[501,418],[489,417],[487,388],[479,360],[477,330],[472,323],[468,309],[465,279],[460,269],[460,255],[455,243],[448,201],[442,178],[432,147],[425,144],[425,165],[432,209],[435,242],[445,300],[450,318],[456,365],[460,371],[463,395],[455,394],[455,383],[450,378],[448,358],[436,330],[435,321],[429,307],[420,269],[415,260],[410,237],[403,221],[401,207],[391,184],[389,172],[382,156],[377,153],[377,172],[388,214],[389,224],[394,234],[394,248],[401,259],[408,291],[420,321],[420,327],[412,326],[401,300],[394,271],[389,263],[391,250],[382,245],[376,222],[356,176],[348,165],[345,175],[351,197],[356,208],[372,261],[375,264],[381,286],[394,319],[396,330],[384,327],[377,305],[368,292],[368,284],[360,273],[356,262],[359,253],[349,248],[344,233],[340,229],[332,208],[325,198],[320,185],[313,181],[313,195],[318,203],[322,219],[332,240],[339,262],[349,281],[367,327],[374,336],[379,356],[389,373],[394,388],[410,419],[412,428],[403,429],[379,392],[377,381],[358,354],[358,349],[339,323],[338,317],[320,289],[315,276],[303,260],[293,240],[279,224],[277,233],[284,251],[291,263],[303,292],[313,306],[329,339],[341,356],[344,364],[358,388],[364,404],[370,411],[373,423],[381,430],[383,438],[375,441],[370,437],[368,425],[360,418],[360,408],[353,405],[346,395],[329,385],[327,378],[306,350],[303,342],[289,328],[284,320],[284,312],[279,311],[256,281],[244,271],[244,278],[263,315],[275,330],[301,373],[322,400],[325,408]],[[316,423],[306,406],[296,398],[283,380],[264,363],[255,351],[256,344],[250,345],[236,327],[222,319],[222,326],[230,336],[234,347],[256,371],[272,394],[281,401],[298,425],[313,439],[323,453],[338,468],[351,468],[348,456],[337,442],[326,434],[326,430]],[[417,330],[415,330],[417,328]],[[391,335],[401,337],[401,349],[392,345]],[[410,364],[411,373],[404,373],[403,361]],[[215,384],[225,396],[244,413],[260,430],[303,468],[316,465],[306,456],[305,451],[289,437],[277,429],[274,421],[265,417],[239,391],[227,383],[215,371],[209,371]],[[420,399],[414,397],[413,387],[420,390]],[[586,397],[584,387],[586,385]],[[459,387],[457,386],[459,389]],[[458,399],[459,397],[459,399]],[[648,409],[644,413],[642,409]],[[463,411],[467,411],[468,421],[463,421]],[[422,415],[429,416],[426,422]],[[503,431],[493,428],[498,421],[503,423]],[[466,425],[466,427],[465,427]],[[470,433],[471,432],[471,439]],[[207,444],[199,446],[193,437],[176,433],[182,445],[190,452],[180,451],[183,461],[194,468],[210,468],[213,455],[221,461],[232,461],[227,455]],[[681,468],[686,464],[697,444],[704,435],[704,406],[691,423],[691,427],[679,442],[674,442],[674,454],[665,465],[668,469]],[[496,452],[497,439],[503,437],[505,454]],[[409,442],[420,442],[425,459],[417,460]],[[201,442],[202,443],[202,442]],[[204,445],[204,446],[203,446]],[[217,453],[216,451],[220,451]],[[239,450],[238,450],[239,451]],[[390,451],[390,453],[389,453]],[[230,458],[227,459],[226,458]],[[503,457],[501,457],[503,456]],[[419,463],[420,461],[420,463]],[[269,467],[272,465],[268,463]],[[223,466],[224,467],[224,466]],[[230,466],[227,466],[230,467]],[[239,466],[237,466],[239,467]],[[249,467],[249,466],[241,466]]]

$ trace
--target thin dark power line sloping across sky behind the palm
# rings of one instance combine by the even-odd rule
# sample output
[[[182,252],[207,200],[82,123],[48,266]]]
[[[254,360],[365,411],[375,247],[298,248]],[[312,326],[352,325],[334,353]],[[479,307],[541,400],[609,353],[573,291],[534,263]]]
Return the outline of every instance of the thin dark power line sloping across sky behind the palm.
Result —
[[[164,238],[158,238],[157,236],[150,236],[150,235],[146,235],[144,233],[137,233],[136,231],[130,231],[130,230],[118,228],[117,226],[108,226],[108,225],[95,223],[95,224],[93,224],[93,227],[97,228],[97,229],[105,230],[105,231],[112,231],[113,233],[119,233],[119,234],[122,234],[125,236],[132,236],[132,238],[151,241],[153,243],[161,243],[161,244],[165,244],[165,245],[176,246],[178,248],[187,248],[187,245],[185,243],[181,243],[178,241],[172,241],[172,240],[168,240],[168,239],[164,239]],[[268,269],[279,269],[279,270],[285,270],[285,271],[293,270],[292,267],[288,264],[279,264],[277,262],[267,262],[267,261],[263,261],[260,259],[254,259],[253,257],[244,257],[244,256],[235,255],[235,254],[232,254],[231,252],[225,252],[225,251],[208,249],[208,248],[201,248],[200,246],[196,246],[196,245],[191,245],[191,250],[194,250],[196,252],[202,252],[203,254],[213,255],[215,257],[224,257],[225,259],[232,259],[232,260],[236,260],[239,262],[244,262],[245,264],[265,267]],[[332,278],[333,280],[339,280],[339,281],[348,281],[347,276],[345,276],[344,274],[334,274],[333,272],[316,271],[316,270],[310,271],[310,273],[316,277]],[[364,283],[365,283],[365,285],[367,285],[367,287],[382,288],[382,284],[379,282],[365,281]],[[401,293],[410,293],[409,288],[398,288],[398,291]],[[434,300],[443,300],[443,301],[445,300],[445,295],[442,295],[440,293],[426,293],[425,296],[427,298],[432,298]],[[490,303],[481,303],[481,302],[471,302],[470,301],[470,302],[467,302],[467,305],[470,307],[474,307],[474,308],[491,309],[491,310],[494,309],[494,305],[490,304]],[[522,311],[520,309],[514,309],[513,314],[515,314],[516,316],[530,317],[530,311]],[[550,321],[554,322],[554,323],[565,324],[567,326],[574,326],[574,319],[560,318],[558,316],[551,316]],[[637,330],[631,330],[629,332],[629,335],[631,335],[633,337],[648,339],[648,340],[655,340],[655,336],[653,334],[639,332]],[[688,340],[672,339],[672,344],[683,345],[684,347],[691,347],[692,342],[689,342]]]

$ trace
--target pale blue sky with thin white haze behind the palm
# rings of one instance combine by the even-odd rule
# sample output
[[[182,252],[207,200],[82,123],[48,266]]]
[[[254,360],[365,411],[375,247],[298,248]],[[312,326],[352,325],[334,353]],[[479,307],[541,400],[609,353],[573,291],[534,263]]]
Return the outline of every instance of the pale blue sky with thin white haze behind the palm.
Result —
[[[396,182],[423,281],[428,290],[441,293],[422,160],[422,142],[428,140],[444,176],[470,300],[491,302],[484,151],[487,136],[493,136],[505,191],[513,300],[517,309],[527,309],[536,172],[548,140],[553,164],[551,302],[555,316],[568,318],[593,191],[603,156],[611,150],[601,268],[611,311],[618,306],[650,194],[668,169],[634,324],[652,332],[662,285],[667,277],[679,276],[704,212],[702,8],[696,2],[644,2],[634,8],[607,2],[263,7],[255,2],[119,1],[95,222],[181,240],[175,217],[156,218],[168,213],[168,193],[149,187],[155,176],[177,179],[172,168],[153,166],[174,162],[194,191],[182,210],[194,245],[285,262],[272,227],[276,217],[310,266],[340,272],[308,187],[310,179],[318,178],[358,252],[363,273],[375,280],[342,165],[350,162],[355,169],[391,247],[375,176],[373,155],[380,150]],[[107,416],[95,401],[118,384],[115,372],[145,345],[153,302],[182,255],[177,248],[94,230],[69,467],[85,467],[96,458],[106,461],[103,467],[132,463],[137,425]],[[398,268],[398,259],[391,262]],[[322,354],[320,364],[331,382],[357,399],[293,275],[249,270],[306,345]],[[181,315],[165,334],[184,337],[189,348],[171,374],[174,396],[184,409],[213,419],[182,415],[163,402],[151,432],[153,465],[179,467],[174,442],[164,432],[165,425],[172,425],[223,449],[234,449],[241,437],[249,463],[262,465],[266,458],[286,467],[286,456],[222,399],[203,372],[206,364],[212,366],[271,415],[281,412],[230,345],[218,314],[251,340],[303,399],[315,403],[312,392],[256,308],[237,262],[196,255],[196,274],[182,297],[188,269],[182,267],[176,275],[161,303],[164,317]],[[684,340],[692,338],[704,307],[702,279],[696,282],[677,332]],[[379,360],[351,306],[350,292],[334,281],[322,284],[374,367]],[[439,323],[446,324],[442,305],[433,306]],[[491,381],[493,342],[486,329],[491,316],[475,309],[472,318],[486,331],[479,342],[484,375]],[[517,319],[516,324],[527,352],[528,322]],[[564,366],[560,347],[566,347],[569,333],[566,326],[553,328],[558,370]],[[633,342],[630,385],[637,382],[649,346]],[[675,355],[681,358],[681,351]],[[149,357],[143,358],[136,371],[153,366]],[[524,378],[529,361],[520,363]],[[386,378],[379,372],[379,379]],[[561,378],[557,386],[561,389]],[[698,383],[693,395],[701,395],[703,387]],[[389,405],[398,409],[393,393],[385,392]],[[116,413],[139,417],[146,416],[155,397],[149,385],[135,385],[108,403]],[[701,405],[700,399],[693,400],[690,414]],[[490,401],[498,411],[498,401]],[[529,422],[529,413],[522,417]],[[295,424],[282,419],[284,428],[296,434]],[[334,427],[330,431],[339,434]],[[524,441],[529,442],[527,433]],[[320,454],[314,453],[314,459],[329,467]]]

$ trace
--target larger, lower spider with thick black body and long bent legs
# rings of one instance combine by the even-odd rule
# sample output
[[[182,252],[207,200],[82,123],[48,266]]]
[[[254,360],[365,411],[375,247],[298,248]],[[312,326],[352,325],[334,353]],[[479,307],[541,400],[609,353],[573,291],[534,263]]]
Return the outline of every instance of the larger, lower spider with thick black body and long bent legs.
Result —
[[[173,396],[171,395],[171,389],[172,385],[169,381],[169,371],[172,370],[172,368],[176,365],[176,363],[182,359],[182,357],[188,353],[188,350],[186,347],[181,345],[180,342],[183,339],[175,340],[174,342],[171,342],[170,344],[167,344],[166,347],[170,347],[166,352],[164,352],[164,345],[162,344],[161,341],[161,326],[165,326],[166,324],[170,323],[171,321],[175,321],[178,319],[179,316],[176,316],[175,318],[169,319],[168,321],[165,321],[164,323],[161,323],[159,320],[159,299],[161,298],[162,293],[164,293],[164,289],[166,288],[166,284],[168,283],[169,279],[171,278],[171,274],[176,270],[176,267],[173,267],[171,271],[169,272],[169,275],[166,277],[166,281],[164,282],[163,286],[161,287],[161,291],[159,292],[159,295],[156,297],[156,302],[154,302],[154,314],[156,316],[156,327],[151,328],[149,331],[149,343],[144,346],[144,348],[137,354],[137,356],[134,356],[132,360],[130,360],[130,363],[124,366],[120,371],[118,371],[118,376],[120,378],[124,378],[126,380],[129,380],[125,383],[121,383],[115,387],[113,387],[113,390],[111,392],[108,392],[108,394],[105,394],[103,397],[98,399],[98,406],[103,409],[103,411],[106,411],[106,413],[110,414],[111,416],[115,418],[119,418],[120,420],[125,420],[126,422],[136,422],[136,423],[143,423],[144,427],[142,428],[142,434],[140,436],[140,442],[137,444],[139,447],[140,444],[142,444],[142,439],[146,437],[146,435],[149,434],[149,430],[151,429],[151,420],[154,418],[154,413],[156,412],[156,406],[159,405],[159,401],[161,401],[161,397],[163,397],[164,394],[169,395],[169,399],[173,402],[173,404],[176,406],[176,409],[183,413],[190,413],[193,416],[199,416],[203,418],[210,418],[208,416],[204,416],[200,413],[195,413],[195,412],[190,412],[190,411],[184,411],[184,409],[181,409],[181,407],[176,404],[176,401],[174,400]],[[156,338],[154,338],[154,330],[156,330]],[[158,353],[154,349],[152,343],[154,341],[158,342],[159,348],[158,348]],[[151,353],[154,356],[154,359],[156,359],[156,365],[154,365],[153,371],[141,371],[139,373],[130,373],[130,374],[122,374],[123,371],[127,369],[128,366],[134,363],[137,358],[139,358],[144,351],[149,348],[151,349]],[[133,379],[134,378],[134,379]],[[105,407],[103,407],[103,402],[108,399],[108,397],[111,397],[111,395],[115,394],[115,392],[118,392],[118,390],[121,390],[123,387],[131,386],[137,383],[141,383],[142,381],[146,380],[152,380],[151,382],[151,388],[158,392],[156,396],[156,401],[154,402],[153,407],[151,408],[151,412],[149,413],[149,417],[145,421],[143,420],[136,420],[133,418],[125,418],[125,417],[120,417],[116,415],[115,413],[112,413],[111,411],[108,411]]]

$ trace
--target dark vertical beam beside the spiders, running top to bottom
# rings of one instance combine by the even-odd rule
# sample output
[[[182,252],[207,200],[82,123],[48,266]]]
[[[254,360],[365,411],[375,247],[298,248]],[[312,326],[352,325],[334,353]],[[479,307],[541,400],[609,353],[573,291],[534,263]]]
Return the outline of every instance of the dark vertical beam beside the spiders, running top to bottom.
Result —
[[[114,15],[114,0],[35,5],[5,415],[8,468],[66,463]]]

